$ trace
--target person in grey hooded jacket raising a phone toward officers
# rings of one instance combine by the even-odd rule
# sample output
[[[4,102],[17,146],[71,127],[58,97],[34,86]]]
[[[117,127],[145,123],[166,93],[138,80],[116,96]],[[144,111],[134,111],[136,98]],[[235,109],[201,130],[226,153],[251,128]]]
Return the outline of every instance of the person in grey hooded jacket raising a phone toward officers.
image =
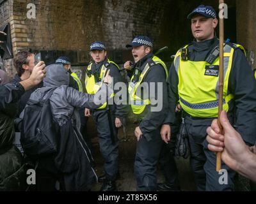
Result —
[[[61,64],[51,64],[45,68],[44,87],[37,89],[29,101],[44,101],[54,89],[50,98],[52,116],[60,126],[56,137],[58,152],[54,156],[42,158],[36,169],[38,191],[53,191],[56,181],[65,191],[88,191],[97,180],[90,161],[90,150],[79,132],[78,108],[97,108],[105,103],[113,90],[104,84],[93,96],[69,87],[69,73]],[[108,73],[107,73],[108,75]],[[105,77],[106,82],[109,77]],[[101,97],[101,103],[97,101]],[[26,153],[26,152],[25,152]]]

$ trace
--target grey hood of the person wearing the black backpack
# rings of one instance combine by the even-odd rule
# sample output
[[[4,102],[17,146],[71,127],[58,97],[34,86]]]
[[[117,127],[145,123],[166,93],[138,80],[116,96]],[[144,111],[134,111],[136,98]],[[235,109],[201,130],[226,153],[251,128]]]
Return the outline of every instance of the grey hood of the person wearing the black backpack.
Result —
[[[45,70],[44,87],[60,87],[69,84],[69,73],[62,64],[51,64]]]

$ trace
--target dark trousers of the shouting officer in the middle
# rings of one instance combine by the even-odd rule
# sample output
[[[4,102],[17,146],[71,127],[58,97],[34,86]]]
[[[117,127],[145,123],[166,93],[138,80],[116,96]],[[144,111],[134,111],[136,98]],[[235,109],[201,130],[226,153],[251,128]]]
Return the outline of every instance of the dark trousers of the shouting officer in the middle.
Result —
[[[163,140],[159,129],[148,134],[147,138],[142,136],[136,147],[134,172],[137,180],[137,191],[157,190],[156,168]]]

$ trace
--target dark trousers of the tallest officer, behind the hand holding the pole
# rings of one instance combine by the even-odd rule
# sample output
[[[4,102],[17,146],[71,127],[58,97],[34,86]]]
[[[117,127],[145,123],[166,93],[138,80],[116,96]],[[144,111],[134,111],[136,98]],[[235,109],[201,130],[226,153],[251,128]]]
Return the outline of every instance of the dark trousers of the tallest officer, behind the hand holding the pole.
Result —
[[[221,163],[221,170],[227,170],[227,182],[224,173],[216,171],[216,154],[207,148],[206,129],[212,119],[191,119],[185,117],[185,126],[191,148],[190,164],[196,180],[198,191],[232,191],[234,189],[235,171]],[[222,184],[222,182],[225,182]]]

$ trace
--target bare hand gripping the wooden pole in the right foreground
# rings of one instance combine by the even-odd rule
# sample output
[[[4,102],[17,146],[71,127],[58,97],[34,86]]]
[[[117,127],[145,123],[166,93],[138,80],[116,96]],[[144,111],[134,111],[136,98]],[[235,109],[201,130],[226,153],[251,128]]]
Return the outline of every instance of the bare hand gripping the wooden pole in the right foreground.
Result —
[[[241,135],[231,126],[225,111],[221,112],[220,123],[224,135],[220,134],[217,119],[213,120],[211,127],[207,128],[208,149],[213,152],[223,151],[221,159],[230,168],[237,171],[238,167],[243,164],[244,158],[250,154],[250,149],[243,142]]]

